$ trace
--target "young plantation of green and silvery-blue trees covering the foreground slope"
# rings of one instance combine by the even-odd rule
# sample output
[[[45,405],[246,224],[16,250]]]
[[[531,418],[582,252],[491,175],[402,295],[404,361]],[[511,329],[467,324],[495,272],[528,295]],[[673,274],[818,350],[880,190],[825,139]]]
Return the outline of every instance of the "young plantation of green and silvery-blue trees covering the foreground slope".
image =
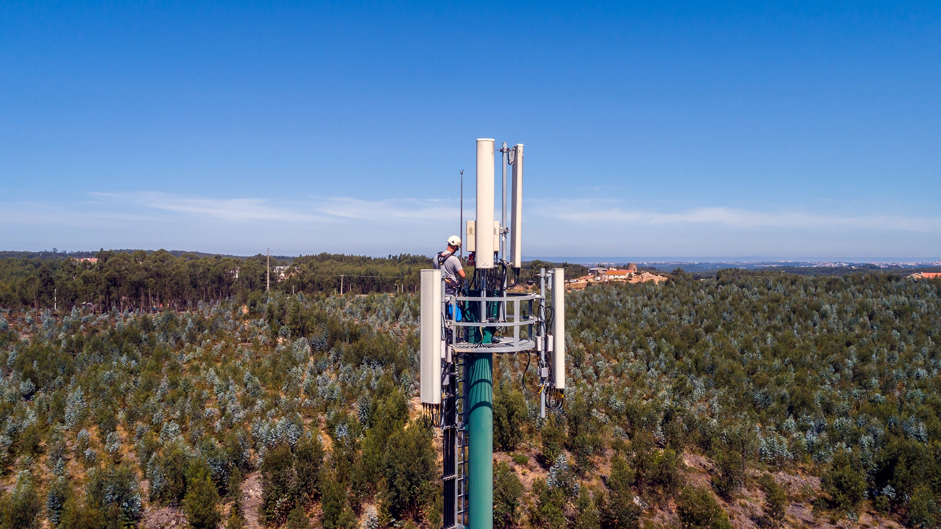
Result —
[[[193,527],[438,526],[436,432],[409,403],[415,294],[191,295],[0,310],[0,528],[161,508]],[[834,523],[941,523],[941,281],[677,271],[572,292],[566,314],[565,409],[538,419],[526,356],[494,362],[498,527],[730,527],[752,489],[771,525],[799,501]]]

